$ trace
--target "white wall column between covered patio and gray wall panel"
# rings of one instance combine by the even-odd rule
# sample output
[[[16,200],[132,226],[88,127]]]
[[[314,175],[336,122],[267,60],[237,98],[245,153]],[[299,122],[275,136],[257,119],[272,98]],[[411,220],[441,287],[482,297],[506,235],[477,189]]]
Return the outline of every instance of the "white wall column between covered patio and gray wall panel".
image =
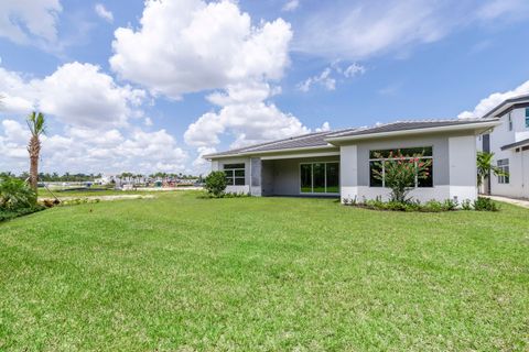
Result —
[[[339,147],[339,183],[342,202],[358,200],[358,155],[356,145]]]

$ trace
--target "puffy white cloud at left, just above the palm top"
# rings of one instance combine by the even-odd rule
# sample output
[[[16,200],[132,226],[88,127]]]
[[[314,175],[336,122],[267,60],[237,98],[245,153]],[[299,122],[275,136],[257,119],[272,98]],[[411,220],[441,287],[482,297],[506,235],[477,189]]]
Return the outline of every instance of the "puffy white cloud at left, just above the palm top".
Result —
[[[130,117],[141,116],[138,108],[145,97],[143,90],[118,86],[98,66],[77,62],[31,80],[0,67],[0,95],[8,112],[39,109],[66,124],[95,129],[126,125]]]

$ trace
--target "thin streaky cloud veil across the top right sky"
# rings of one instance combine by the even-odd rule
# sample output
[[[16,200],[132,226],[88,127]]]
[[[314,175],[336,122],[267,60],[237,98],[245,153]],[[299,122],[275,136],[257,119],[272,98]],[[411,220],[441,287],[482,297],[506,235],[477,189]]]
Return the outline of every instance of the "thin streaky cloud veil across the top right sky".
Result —
[[[468,25],[523,19],[527,0],[374,0],[322,6],[296,25],[294,50],[334,59],[409,54],[411,46],[439,41]]]

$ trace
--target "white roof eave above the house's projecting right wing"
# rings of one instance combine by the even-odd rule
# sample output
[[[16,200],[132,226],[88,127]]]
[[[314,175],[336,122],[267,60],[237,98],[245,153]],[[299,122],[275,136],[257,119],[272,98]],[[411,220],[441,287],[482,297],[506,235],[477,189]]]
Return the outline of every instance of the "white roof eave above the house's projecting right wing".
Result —
[[[326,142],[337,145],[335,143],[347,142],[347,141],[358,141],[358,140],[373,140],[373,139],[384,139],[399,135],[410,135],[410,134],[423,134],[423,133],[436,133],[436,132],[450,132],[450,131],[482,131],[485,132],[492,128],[499,125],[500,122],[495,121],[484,121],[484,122],[473,122],[465,124],[452,124],[444,127],[435,128],[423,128],[423,129],[413,129],[413,130],[402,130],[402,131],[390,131],[390,132],[378,132],[378,133],[366,133],[358,135],[348,135],[348,136],[335,136],[325,139]],[[478,132],[479,133],[479,132]]]

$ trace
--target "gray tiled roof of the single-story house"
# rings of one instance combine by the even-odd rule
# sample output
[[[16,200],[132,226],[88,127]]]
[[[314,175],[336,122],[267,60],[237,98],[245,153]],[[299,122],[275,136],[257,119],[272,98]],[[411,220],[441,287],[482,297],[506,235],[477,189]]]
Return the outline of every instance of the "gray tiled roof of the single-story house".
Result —
[[[461,120],[422,120],[422,121],[397,121],[385,124],[377,124],[370,128],[352,128],[337,131],[315,132],[292,136],[289,139],[271,141],[261,144],[255,144],[246,147],[235,148],[226,152],[204,155],[205,158],[215,158],[223,156],[237,156],[255,154],[259,152],[273,152],[282,150],[295,150],[306,147],[332,147],[328,143],[335,138],[368,135],[385,132],[402,132],[408,130],[420,130],[429,128],[440,128],[450,125],[464,125],[473,123],[484,123],[487,121],[497,121],[497,119],[461,119]]]

